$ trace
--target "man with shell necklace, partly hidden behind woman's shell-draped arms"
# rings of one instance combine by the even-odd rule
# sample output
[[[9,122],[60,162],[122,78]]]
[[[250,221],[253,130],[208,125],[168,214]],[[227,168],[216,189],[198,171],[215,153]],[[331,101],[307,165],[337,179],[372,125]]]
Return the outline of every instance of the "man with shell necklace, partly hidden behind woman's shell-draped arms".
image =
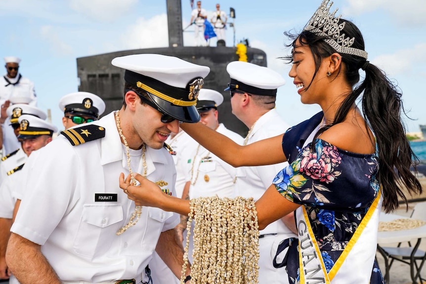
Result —
[[[201,122],[220,134],[242,145],[244,138],[219,123],[217,107],[223,102],[223,95],[212,89],[201,89],[198,96],[197,110]],[[188,148],[182,154],[187,183],[182,198],[198,197],[233,197],[235,168],[210,153],[200,144]],[[180,231],[186,229],[186,218],[179,224]],[[192,261],[193,239],[190,235],[188,259]],[[183,238],[186,243],[186,238]]]

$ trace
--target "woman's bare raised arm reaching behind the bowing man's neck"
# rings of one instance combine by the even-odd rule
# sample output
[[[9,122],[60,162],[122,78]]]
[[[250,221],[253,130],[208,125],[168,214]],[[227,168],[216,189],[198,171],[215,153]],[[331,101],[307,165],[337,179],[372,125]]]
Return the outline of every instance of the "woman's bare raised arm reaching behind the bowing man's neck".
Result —
[[[201,122],[180,125],[204,148],[234,167],[287,161],[281,147],[283,134],[241,146]]]

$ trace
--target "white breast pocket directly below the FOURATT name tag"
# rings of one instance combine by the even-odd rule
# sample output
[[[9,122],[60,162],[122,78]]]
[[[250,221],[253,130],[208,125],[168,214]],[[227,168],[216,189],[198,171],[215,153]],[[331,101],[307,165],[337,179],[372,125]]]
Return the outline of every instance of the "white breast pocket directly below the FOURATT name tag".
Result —
[[[76,253],[94,257],[105,253],[123,220],[121,204],[85,204],[74,241]]]

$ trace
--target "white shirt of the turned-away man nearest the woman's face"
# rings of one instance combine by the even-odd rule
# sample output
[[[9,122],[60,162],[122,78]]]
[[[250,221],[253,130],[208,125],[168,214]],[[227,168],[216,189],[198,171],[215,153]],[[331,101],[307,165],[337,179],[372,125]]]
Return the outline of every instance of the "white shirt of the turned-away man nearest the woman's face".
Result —
[[[276,109],[272,109],[256,121],[247,144],[283,134],[288,128],[289,125],[283,121]],[[288,162],[282,162],[237,168],[234,196],[253,197],[257,201],[272,184],[277,173],[287,164]],[[261,230],[260,235],[290,232],[284,223],[278,220]]]

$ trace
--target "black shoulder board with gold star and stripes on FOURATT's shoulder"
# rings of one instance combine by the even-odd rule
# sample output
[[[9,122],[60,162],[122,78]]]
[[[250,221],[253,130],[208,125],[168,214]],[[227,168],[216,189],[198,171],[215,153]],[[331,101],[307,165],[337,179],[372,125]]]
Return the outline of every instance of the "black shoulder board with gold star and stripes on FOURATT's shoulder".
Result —
[[[105,128],[95,124],[83,124],[80,127],[64,130],[61,134],[70,141],[71,145],[77,146],[105,137]]]

